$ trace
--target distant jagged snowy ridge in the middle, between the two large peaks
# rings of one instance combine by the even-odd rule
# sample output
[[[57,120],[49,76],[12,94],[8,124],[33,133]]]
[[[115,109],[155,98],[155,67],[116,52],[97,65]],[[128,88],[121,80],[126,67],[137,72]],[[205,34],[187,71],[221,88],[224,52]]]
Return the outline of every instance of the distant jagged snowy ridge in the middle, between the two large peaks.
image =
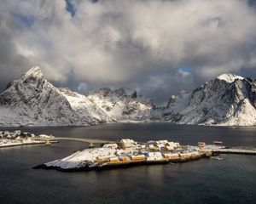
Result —
[[[130,88],[101,88],[87,97],[117,122],[147,122],[154,110],[152,100],[137,95]]]

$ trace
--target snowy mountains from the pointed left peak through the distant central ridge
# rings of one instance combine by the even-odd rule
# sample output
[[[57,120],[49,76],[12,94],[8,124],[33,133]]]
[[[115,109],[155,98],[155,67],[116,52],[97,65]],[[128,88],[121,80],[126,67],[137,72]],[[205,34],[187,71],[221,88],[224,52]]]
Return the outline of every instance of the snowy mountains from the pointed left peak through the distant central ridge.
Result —
[[[153,102],[129,88],[102,88],[88,96],[55,88],[38,66],[0,94],[0,126],[86,126],[147,121]]]

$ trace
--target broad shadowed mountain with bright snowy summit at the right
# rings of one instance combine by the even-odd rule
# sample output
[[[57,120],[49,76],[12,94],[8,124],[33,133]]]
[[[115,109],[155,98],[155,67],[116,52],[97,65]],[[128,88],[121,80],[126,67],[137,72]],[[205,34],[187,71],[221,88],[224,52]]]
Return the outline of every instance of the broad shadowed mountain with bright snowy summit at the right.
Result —
[[[163,111],[164,121],[185,124],[256,125],[256,82],[223,74],[192,93],[172,96]]]

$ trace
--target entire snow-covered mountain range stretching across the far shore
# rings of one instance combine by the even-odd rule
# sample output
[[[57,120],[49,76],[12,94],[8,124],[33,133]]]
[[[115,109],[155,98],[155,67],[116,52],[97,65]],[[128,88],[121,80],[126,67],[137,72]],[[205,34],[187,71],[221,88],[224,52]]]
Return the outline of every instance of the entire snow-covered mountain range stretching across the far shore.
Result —
[[[130,88],[87,95],[55,88],[36,66],[0,94],[0,126],[86,126],[102,122],[256,125],[256,82],[223,74],[200,88],[172,96],[166,107]]]

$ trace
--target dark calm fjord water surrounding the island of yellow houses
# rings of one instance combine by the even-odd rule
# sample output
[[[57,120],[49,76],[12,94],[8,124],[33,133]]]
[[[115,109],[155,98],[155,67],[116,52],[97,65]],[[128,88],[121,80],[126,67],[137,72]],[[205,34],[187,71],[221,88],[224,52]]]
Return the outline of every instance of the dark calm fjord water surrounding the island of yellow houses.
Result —
[[[195,127],[114,124],[95,127],[26,128],[61,137],[138,141],[168,139],[182,144],[222,140],[256,146],[255,127]],[[172,166],[140,166],[101,172],[61,173],[31,167],[70,155],[87,144],[61,141],[0,149],[0,203],[255,203],[256,156],[224,156]]]

